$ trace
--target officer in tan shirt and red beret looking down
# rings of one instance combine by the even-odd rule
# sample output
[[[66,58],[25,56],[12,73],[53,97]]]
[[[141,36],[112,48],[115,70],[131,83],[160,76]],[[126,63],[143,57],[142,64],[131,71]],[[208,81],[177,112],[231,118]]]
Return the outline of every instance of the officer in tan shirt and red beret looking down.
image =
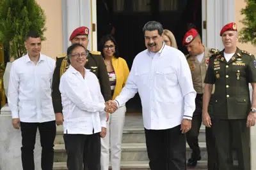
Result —
[[[188,160],[188,167],[195,167],[197,161],[201,159],[200,155],[200,146],[198,145],[198,136],[200,127],[202,125],[202,97],[204,94],[204,78],[209,64],[209,59],[214,53],[217,53],[218,50],[214,48],[207,48],[202,44],[200,34],[196,29],[190,29],[186,32],[183,45],[186,46],[189,54],[186,55],[188,64],[192,74],[193,86],[196,90],[196,110],[193,113],[192,126],[190,131],[186,133],[186,139],[189,147],[192,150],[191,158]],[[212,89],[212,94],[214,89]],[[212,103],[209,107],[209,113],[212,113]],[[206,146],[208,153],[208,169],[215,170],[217,169],[217,152],[215,149],[214,136],[212,134],[212,128],[205,128],[205,138]]]

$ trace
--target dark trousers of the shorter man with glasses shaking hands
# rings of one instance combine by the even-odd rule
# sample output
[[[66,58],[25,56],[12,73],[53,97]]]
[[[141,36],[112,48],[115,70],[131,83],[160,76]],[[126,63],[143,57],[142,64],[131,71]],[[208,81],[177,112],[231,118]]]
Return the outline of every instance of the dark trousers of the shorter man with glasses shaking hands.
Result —
[[[100,170],[100,134],[64,134],[68,170]],[[84,167],[83,167],[84,165]]]

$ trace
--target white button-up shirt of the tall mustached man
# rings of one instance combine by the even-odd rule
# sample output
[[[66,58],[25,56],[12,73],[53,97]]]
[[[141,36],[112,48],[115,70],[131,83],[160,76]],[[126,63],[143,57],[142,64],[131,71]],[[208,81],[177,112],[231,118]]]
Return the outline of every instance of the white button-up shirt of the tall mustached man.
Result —
[[[119,106],[139,92],[146,129],[170,129],[182,118],[192,119],[196,92],[186,57],[179,50],[163,46],[150,57],[148,50],[134,59],[125,87],[116,101]]]

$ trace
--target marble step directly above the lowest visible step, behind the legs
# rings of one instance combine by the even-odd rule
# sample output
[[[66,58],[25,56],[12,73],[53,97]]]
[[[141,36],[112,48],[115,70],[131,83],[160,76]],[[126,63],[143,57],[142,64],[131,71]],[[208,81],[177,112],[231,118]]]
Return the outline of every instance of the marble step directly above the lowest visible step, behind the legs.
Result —
[[[200,142],[202,160],[207,160],[207,150],[205,142]],[[187,159],[190,158],[191,149],[187,145]],[[236,156],[234,155],[234,159]],[[54,162],[65,162],[67,155],[63,144],[54,146]],[[123,143],[121,160],[124,161],[145,161],[148,160],[147,147],[145,143]]]

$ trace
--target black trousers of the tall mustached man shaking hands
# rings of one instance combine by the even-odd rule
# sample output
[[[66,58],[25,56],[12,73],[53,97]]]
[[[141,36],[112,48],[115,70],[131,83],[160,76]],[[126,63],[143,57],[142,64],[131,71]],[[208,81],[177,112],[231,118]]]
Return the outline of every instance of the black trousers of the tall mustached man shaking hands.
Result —
[[[186,136],[180,125],[171,129],[145,129],[146,145],[151,170],[185,170]]]

